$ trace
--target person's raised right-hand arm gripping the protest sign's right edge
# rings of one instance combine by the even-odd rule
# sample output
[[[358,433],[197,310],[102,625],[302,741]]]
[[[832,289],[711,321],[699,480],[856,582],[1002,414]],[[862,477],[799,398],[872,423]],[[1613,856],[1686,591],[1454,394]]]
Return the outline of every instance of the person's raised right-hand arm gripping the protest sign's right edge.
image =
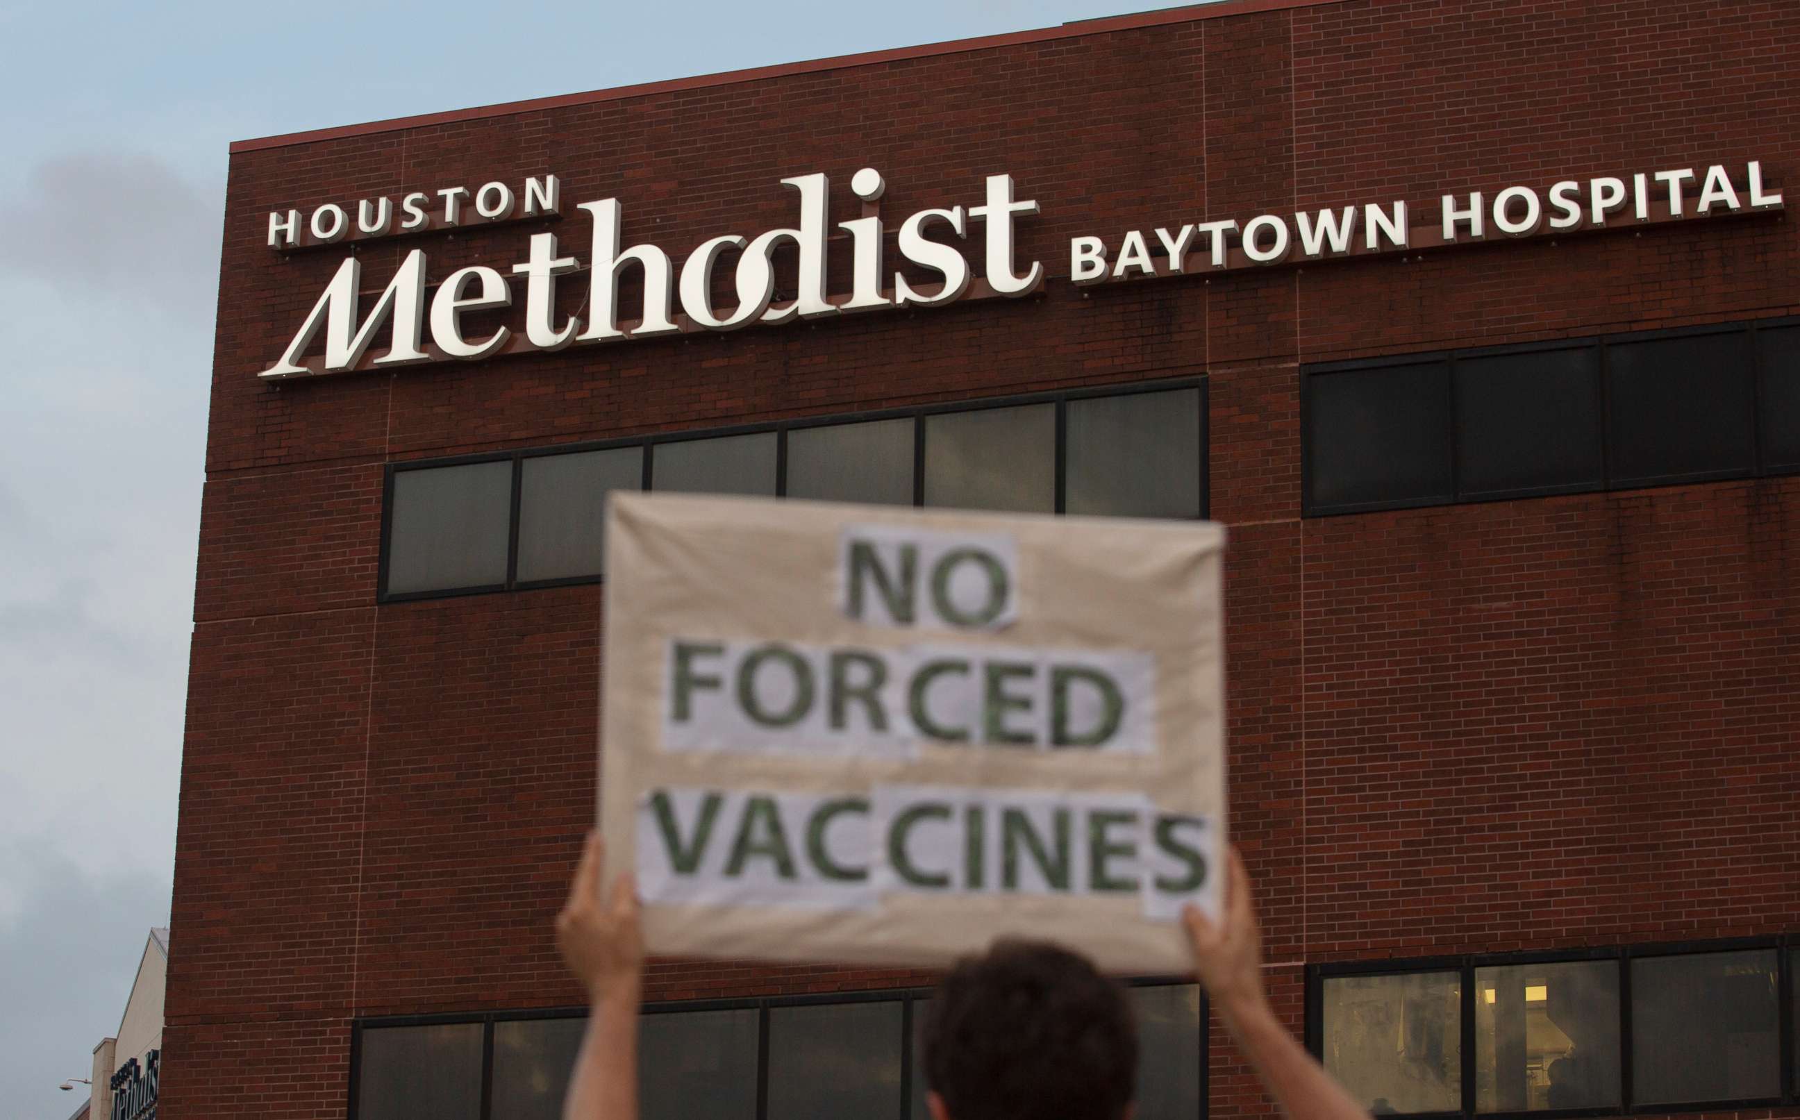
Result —
[[[1213,924],[1197,908],[1183,911],[1193,944],[1193,971],[1244,1057],[1289,1120],[1368,1120],[1368,1113],[1287,1034],[1262,987],[1262,935],[1244,857],[1231,848],[1226,913]]]

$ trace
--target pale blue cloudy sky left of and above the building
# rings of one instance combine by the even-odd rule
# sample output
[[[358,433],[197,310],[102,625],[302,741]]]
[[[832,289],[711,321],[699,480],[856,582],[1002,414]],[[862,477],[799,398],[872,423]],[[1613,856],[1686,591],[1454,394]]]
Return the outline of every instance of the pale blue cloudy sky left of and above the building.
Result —
[[[0,1120],[169,918],[232,140],[1145,7],[0,0]]]

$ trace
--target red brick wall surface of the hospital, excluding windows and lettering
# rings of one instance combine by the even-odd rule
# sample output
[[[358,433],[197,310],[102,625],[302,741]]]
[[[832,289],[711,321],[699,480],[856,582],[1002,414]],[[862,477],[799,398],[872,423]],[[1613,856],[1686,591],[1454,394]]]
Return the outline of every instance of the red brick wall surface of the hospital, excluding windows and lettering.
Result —
[[[265,384],[344,250],[266,212],[563,176],[671,254],[1008,171],[1071,236],[1764,160],[1800,187],[1800,7],[1323,2],[700,85],[232,158],[167,994],[171,1120],[342,1116],[360,1014],[578,1001],[598,587],[376,607],[382,465],[1211,373],[1233,832],[1303,962],[1800,929],[1800,479],[1300,519],[1298,364],[1800,310],[1793,221],[1237,272],[729,337]],[[535,225],[373,243],[364,286]],[[563,285],[565,304],[585,279]],[[653,998],[916,983],[653,965]],[[1213,1115],[1271,1115],[1213,1037]]]

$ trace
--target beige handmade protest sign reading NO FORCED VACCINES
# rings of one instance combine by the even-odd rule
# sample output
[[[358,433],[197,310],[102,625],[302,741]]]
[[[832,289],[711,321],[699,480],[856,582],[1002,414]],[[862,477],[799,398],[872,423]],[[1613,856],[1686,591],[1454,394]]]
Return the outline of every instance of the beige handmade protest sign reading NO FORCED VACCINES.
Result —
[[[1224,529],[614,493],[599,819],[664,956],[1190,967]]]

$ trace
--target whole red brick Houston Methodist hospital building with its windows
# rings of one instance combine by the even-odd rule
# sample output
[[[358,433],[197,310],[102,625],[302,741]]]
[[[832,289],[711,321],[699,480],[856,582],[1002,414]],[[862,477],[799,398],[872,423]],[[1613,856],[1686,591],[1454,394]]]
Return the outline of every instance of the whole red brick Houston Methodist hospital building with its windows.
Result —
[[[166,1116],[553,1115],[644,484],[1226,522],[1231,834],[1352,1089],[1800,1115],[1795,58],[1787,0],[1235,0],[236,144]],[[675,272],[812,175],[788,321],[706,330],[758,245]],[[601,200],[675,330],[644,252],[558,346]],[[1271,1115],[1177,980],[1139,1115]],[[646,1113],[920,1115],[927,983],[657,962]]]

